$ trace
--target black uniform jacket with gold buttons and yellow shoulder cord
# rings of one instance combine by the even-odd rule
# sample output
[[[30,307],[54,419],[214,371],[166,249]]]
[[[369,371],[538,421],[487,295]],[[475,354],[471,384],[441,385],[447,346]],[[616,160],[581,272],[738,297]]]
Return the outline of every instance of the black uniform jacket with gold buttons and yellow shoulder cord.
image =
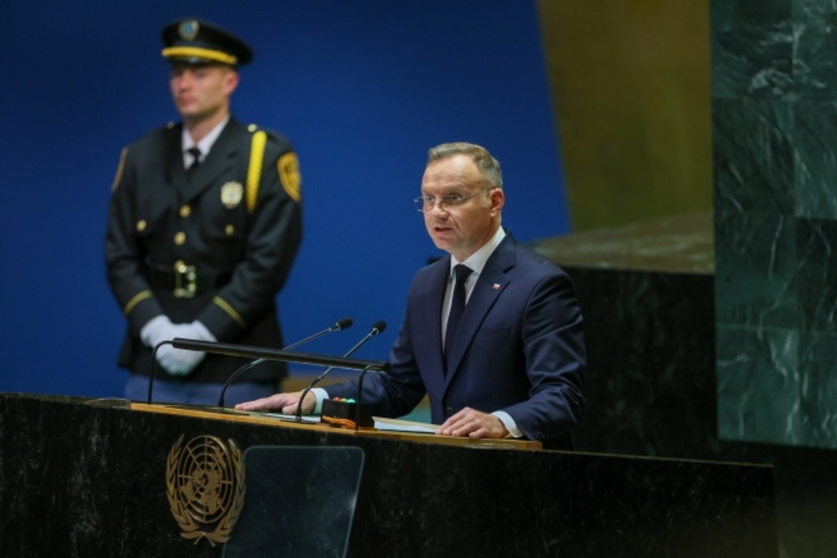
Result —
[[[160,314],[199,320],[218,341],[282,347],[275,295],[302,236],[300,174],[287,139],[230,119],[187,171],[181,136],[182,125],[172,124],[128,145],[110,200],[108,282],[128,321],[119,364],[144,375],[151,348],[139,333]],[[208,354],[182,381],[223,382],[244,363]],[[263,363],[241,379],[284,376],[283,363]]]

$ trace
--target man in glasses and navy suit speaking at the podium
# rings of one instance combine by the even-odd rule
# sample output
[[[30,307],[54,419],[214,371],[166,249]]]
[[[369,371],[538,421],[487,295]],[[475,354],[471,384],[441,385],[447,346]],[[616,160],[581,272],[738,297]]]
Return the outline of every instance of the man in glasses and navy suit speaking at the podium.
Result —
[[[439,434],[568,449],[584,403],[581,312],[569,277],[501,227],[505,200],[500,165],[484,148],[429,151],[415,201],[449,256],[413,279],[390,372],[367,374],[362,401],[399,417],[427,393]],[[357,398],[357,383],[316,388],[302,408],[316,411],[326,397]],[[292,413],[299,398],[278,393],[237,408]]]

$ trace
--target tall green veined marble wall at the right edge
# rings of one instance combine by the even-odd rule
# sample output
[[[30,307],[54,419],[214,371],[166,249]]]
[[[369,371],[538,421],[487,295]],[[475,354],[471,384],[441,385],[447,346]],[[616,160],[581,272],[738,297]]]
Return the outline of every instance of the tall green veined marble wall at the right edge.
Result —
[[[837,3],[711,3],[718,432],[837,449]]]

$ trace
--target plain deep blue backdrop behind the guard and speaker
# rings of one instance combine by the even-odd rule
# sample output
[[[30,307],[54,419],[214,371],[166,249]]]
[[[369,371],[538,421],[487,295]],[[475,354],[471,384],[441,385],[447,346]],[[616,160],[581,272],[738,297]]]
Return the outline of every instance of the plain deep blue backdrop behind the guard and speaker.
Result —
[[[107,202],[122,146],[177,119],[159,32],[185,15],[249,41],[234,114],[300,155],[305,237],[279,297],[288,342],[350,316],[351,330],[305,349],[342,354],[383,319],[356,356],[386,358],[410,278],[441,254],[411,203],[432,145],[473,141],[500,160],[518,240],[568,231],[533,0],[5,3],[0,391],[121,393]]]

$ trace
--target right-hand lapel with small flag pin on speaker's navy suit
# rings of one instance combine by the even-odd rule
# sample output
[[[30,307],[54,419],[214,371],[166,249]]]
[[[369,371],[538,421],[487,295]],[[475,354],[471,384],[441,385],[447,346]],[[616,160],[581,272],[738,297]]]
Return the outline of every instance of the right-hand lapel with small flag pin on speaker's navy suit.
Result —
[[[500,293],[506,288],[509,283],[509,278],[506,275],[508,271],[515,264],[515,248],[516,242],[511,237],[511,234],[506,234],[500,246],[485,262],[485,267],[477,279],[474,290],[471,291],[468,303],[465,305],[465,312],[462,313],[459,330],[456,332],[454,339],[454,346],[448,347],[450,353],[450,365],[445,379],[445,384],[449,384],[451,378],[457,373],[462,363],[462,358],[470,347],[480,324],[485,319]]]

